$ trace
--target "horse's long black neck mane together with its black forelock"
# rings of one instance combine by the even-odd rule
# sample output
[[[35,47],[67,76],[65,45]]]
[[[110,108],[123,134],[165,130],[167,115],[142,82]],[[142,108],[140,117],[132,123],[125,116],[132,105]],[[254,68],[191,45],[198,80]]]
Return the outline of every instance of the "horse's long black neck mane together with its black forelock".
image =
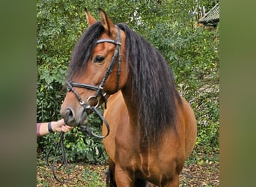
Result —
[[[138,123],[144,126],[146,136],[158,138],[166,126],[174,126],[176,104],[180,95],[167,62],[144,37],[139,36],[127,25],[118,26],[126,34],[126,56],[129,76],[132,79],[132,96],[138,109]],[[73,76],[82,76],[86,64],[100,35],[100,22],[91,25],[80,37],[70,61],[67,81]]]

